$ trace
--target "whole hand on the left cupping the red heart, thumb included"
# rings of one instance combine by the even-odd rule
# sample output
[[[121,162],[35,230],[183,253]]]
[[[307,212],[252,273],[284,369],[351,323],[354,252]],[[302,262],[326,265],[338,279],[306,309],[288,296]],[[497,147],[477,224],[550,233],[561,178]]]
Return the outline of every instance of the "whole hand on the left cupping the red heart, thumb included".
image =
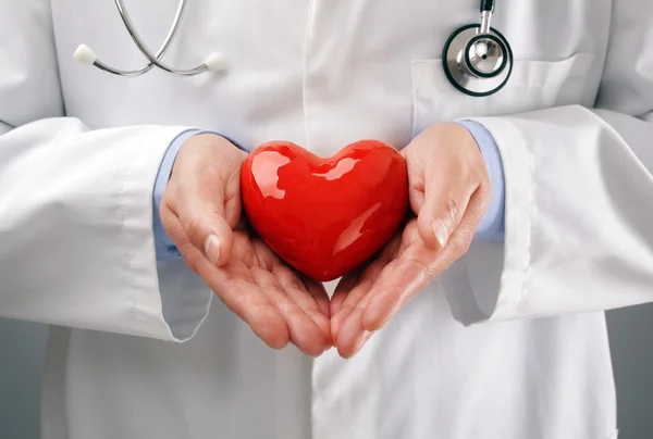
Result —
[[[212,134],[182,146],[161,199],[161,222],[190,269],[268,346],[318,356],[331,347],[322,284],[281,261],[242,217],[247,154]]]

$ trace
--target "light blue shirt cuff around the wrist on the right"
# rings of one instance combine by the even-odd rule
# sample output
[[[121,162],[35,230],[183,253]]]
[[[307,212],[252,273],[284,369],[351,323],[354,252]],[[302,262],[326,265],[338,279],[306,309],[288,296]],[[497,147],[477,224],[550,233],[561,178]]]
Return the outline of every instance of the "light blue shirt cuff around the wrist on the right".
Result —
[[[477,141],[490,176],[492,195],[485,216],[477,228],[475,238],[485,241],[503,241],[505,237],[505,180],[503,161],[496,141],[478,122],[457,121]]]

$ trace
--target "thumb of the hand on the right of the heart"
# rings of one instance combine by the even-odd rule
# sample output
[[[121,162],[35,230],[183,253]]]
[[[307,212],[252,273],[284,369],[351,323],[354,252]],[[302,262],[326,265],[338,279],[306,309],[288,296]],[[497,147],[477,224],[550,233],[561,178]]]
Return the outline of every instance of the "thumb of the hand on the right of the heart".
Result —
[[[432,249],[442,249],[460,224],[477,187],[469,180],[441,174],[427,183],[424,203],[417,216],[420,238]]]

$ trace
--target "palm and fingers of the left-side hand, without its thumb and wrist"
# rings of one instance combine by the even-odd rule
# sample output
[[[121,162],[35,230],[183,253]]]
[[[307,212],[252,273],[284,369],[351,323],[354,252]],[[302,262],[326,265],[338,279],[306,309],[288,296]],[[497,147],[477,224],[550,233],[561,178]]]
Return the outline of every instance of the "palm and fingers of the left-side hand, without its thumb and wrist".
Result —
[[[229,262],[211,267],[213,290],[269,344],[288,340],[309,355],[331,346],[329,297],[285,265],[249,228],[237,227]]]

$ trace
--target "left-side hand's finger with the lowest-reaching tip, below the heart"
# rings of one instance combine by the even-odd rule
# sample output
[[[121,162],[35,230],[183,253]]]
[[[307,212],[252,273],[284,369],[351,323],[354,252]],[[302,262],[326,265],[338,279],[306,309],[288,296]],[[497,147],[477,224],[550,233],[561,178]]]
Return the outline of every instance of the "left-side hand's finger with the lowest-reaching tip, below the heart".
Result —
[[[318,325],[285,296],[272,273],[260,267],[251,268],[251,273],[260,290],[285,318],[293,344],[307,355],[321,355],[326,343]]]

